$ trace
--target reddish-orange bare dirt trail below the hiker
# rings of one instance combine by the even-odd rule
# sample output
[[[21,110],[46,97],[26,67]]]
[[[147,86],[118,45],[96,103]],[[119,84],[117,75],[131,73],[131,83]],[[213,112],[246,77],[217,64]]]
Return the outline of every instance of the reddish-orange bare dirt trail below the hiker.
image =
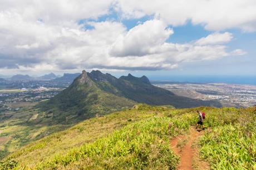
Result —
[[[198,132],[195,127],[190,127],[189,134],[178,136],[170,141],[170,145],[174,152],[180,156],[180,164],[178,169],[193,169],[194,156],[198,156],[197,149],[192,148],[195,139],[203,134],[204,131]]]

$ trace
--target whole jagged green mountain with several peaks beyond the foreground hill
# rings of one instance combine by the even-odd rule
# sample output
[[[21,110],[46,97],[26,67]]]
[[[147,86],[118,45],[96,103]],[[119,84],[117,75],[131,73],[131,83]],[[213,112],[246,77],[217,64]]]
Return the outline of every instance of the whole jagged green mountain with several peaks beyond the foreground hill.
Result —
[[[38,107],[46,114],[53,114],[52,123],[73,123],[131,107],[135,103],[177,108],[221,107],[216,101],[176,96],[168,90],[153,86],[146,76],[138,78],[129,74],[116,78],[100,71],[83,71],[68,88]]]

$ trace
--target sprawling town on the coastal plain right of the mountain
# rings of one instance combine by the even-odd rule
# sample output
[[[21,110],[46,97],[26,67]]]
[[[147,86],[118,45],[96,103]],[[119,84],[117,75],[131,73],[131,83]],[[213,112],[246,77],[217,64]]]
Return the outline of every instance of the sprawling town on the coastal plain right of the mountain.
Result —
[[[224,83],[153,82],[160,88],[184,97],[221,102],[225,107],[249,107],[256,104],[256,86]]]

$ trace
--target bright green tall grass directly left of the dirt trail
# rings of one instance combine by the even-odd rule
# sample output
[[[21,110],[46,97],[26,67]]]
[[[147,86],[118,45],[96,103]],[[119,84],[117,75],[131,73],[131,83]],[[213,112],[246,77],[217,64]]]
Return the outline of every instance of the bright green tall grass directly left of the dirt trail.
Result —
[[[168,129],[170,122],[173,122],[173,126]],[[187,131],[189,127],[190,124],[181,119],[149,118],[129,124],[65,156],[56,156],[37,168],[175,169],[179,158],[171,150],[169,139]]]

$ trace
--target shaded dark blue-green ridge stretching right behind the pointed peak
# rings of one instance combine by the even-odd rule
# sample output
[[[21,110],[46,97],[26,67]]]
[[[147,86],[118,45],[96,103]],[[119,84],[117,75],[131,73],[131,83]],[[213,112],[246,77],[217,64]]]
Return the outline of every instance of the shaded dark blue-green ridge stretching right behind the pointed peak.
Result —
[[[128,74],[128,76],[122,76],[117,79],[111,76],[111,74],[103,74],[100,71],[92,71],[89,76],[99,84],[101,89],[139,103],[158,106],[172,105],[177,108],[198,106],[221,107],[221,104],[217,101],[202,101],[176,96],[166,89],[153,86],[146,76],[139,78]]]

